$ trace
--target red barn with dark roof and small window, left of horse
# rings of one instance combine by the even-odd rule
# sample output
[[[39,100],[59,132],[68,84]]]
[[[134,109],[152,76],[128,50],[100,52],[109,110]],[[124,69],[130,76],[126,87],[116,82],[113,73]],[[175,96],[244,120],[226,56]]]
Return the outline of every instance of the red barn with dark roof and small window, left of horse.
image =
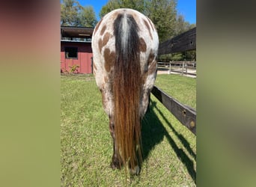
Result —
[[[92,73],[94,28],[61,26],[61,73]]]

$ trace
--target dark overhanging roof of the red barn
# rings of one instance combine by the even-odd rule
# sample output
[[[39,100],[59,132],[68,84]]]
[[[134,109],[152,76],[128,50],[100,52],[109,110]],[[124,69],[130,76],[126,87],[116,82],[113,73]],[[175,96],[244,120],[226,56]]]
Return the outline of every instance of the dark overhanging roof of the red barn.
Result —
[[[61,37],[91,37],[94,28],[61,26]]]

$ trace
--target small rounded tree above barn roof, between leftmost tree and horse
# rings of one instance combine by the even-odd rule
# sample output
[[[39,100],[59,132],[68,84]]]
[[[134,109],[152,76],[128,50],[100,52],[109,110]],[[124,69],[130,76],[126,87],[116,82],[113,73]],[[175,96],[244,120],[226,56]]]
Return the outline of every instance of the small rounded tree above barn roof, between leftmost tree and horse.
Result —
[[[94,7],[82,7],[79,13],[79,25],[83,27],[94,27],[97,24],[97,19],[94,12]]]

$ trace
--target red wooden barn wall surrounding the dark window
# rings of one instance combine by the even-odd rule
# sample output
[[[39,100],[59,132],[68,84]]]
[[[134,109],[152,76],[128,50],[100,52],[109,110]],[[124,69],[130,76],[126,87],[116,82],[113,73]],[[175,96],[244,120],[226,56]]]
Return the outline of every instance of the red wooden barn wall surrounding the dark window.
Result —
[[[65,47],[77,47],[78,58],[65,58]],[[75,73],[92,73],[91,58],[92,58],[91,43],[81,42],[65,42],[61,41],[61,71],[70,72],[70,67],[78,65]]]

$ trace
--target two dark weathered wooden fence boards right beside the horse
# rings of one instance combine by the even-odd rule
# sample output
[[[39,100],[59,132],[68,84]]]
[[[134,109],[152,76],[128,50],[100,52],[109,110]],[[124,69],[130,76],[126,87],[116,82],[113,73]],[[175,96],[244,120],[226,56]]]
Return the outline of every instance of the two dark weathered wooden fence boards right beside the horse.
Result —
[[[173,37],[170,40],[160,43],[158,55],[196,49],[195,39],[196,28],[192,28],[177,37]],[[168,94],[161,91],[156,86],[153,87],[151,93],[153,93],[153,95],[156,96],[156,98],[159,99],[159,101],[162,102],[162,104],[165,105],[172,114],[174,114],[180,123],[196,135],[196,111],[194,108],[183,105],[181,102],[171,96],[168,96]]]

